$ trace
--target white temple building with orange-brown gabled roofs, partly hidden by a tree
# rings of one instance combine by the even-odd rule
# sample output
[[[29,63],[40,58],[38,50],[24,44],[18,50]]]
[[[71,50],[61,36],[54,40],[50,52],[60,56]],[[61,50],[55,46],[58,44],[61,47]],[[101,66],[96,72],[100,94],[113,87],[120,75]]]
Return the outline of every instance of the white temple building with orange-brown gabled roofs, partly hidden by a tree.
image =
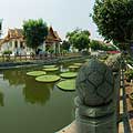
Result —
[[[44,42],[39,47],[42,51],[52,51],[53,53],[60,53],[61,38],[57,31],[53,31],[52,27],[49,28],[49,33],[44,39]],[[12,51],[12,54],[29,54],[33,50],[27,47],[24,41],[22,29],[9,29],[8,34],[0,40],[0,51]]]

